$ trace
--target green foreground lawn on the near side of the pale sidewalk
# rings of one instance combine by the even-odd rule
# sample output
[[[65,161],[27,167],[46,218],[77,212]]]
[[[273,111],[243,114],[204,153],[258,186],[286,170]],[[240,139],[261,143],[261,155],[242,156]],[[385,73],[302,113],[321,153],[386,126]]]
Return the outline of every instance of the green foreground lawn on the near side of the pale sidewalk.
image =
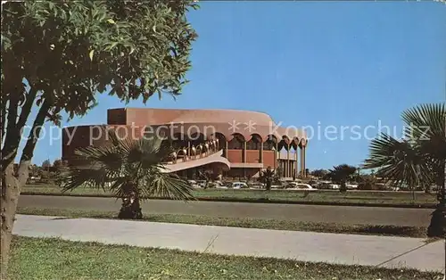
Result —
[[[440,279],[434,272],[14,236],[15,279]]]

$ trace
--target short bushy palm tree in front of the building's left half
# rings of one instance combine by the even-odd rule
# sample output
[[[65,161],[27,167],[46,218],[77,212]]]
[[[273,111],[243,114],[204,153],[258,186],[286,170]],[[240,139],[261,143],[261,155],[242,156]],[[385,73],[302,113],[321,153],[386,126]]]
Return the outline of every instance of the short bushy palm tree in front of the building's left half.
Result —
[[[70,168],[62,188],[73,190],[80,185],[110,189],[122,200],[119,218],[142,218],[140,202],[153,195],[173,199],[193,198],[185,180],[166,172],[162,162],[169,160],[171,148],[157,137],[120,140],[111,131],[110,144],[89,146],[76,151],[89,164]]]

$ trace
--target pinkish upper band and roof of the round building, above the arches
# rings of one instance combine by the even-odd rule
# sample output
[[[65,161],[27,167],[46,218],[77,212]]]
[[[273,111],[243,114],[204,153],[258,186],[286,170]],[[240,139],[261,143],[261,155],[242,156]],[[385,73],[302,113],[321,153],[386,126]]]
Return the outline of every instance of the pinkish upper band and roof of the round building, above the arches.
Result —
[[[222,109],[153,109],[118,108],[109,109],[108,124],[166,127],[170,133],[192,135],[202,133],[212,136],[219,133],[231,140],[235,135],[249,140],[257,135],[263,141],[275,136],[293,141],[294,144],[307,144],[307,137],[301,128],[279,127],[266,113],[259,111],[222,110]]]

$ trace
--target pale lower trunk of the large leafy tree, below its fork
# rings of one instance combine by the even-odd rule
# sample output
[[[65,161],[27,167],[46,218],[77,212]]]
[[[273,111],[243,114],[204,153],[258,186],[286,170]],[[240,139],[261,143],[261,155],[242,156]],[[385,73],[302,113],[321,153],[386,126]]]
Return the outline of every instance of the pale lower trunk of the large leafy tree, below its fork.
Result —
[[[21,194],[21,185],[14,174],[13,161],[6,166],[2,174],[1,185],[1,211],[0,211],[0,227],[1,227],[1,279],[7,279],[7,268],[9,260],[9,250],[12,241],[12,226],[15,220],[15,211]]]

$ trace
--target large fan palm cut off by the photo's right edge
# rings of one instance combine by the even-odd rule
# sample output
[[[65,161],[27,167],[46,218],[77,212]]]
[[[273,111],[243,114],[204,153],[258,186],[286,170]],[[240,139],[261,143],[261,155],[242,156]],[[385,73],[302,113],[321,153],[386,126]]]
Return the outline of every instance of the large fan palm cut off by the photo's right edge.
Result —
[[[376,175],[393,184],[437,185],[437,209],[433,213],[429,236],[445,234],[445,103],[421,104],[402,113],[406,124],[404,139],[383,134],[372,140],[364,167],[377,169]]]

